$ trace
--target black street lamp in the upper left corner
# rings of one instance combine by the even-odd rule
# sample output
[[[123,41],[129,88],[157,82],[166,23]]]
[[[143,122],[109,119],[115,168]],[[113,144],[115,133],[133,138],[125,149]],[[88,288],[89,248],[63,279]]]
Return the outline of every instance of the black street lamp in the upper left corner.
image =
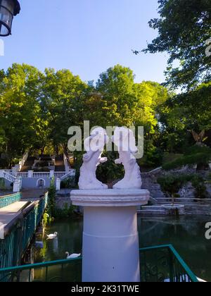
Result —
[[[11,35],[13,16],[20,13],[18,0],[0,0],[0,36]]]

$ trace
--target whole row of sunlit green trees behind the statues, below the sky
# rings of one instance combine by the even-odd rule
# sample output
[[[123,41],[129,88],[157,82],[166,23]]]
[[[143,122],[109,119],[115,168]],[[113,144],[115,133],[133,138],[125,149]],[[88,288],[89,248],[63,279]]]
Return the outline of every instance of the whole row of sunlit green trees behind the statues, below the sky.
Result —
[[[9,159],[26,149],[59,147],[68,152],[72,125],[143,125],[150,137],[158,130],[160,108],[168,99],[156,82],[134,82],[131,69],[117,65],[101,73],[96,84],[85,83],[70,70],[14,63],[0,71],[0,153]]]

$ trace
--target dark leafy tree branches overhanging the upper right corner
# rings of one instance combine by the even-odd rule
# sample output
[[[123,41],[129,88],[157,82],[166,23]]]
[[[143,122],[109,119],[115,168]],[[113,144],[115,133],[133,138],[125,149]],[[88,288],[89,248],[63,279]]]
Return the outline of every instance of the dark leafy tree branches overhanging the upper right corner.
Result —
[[[210,0],[159,0],[160,18],[149,22],[158,37],[145,52],[167,52],[167,85],[193,89],[211,78],[211,56],[205,44],[211,37]],[[175,66],[178,64],[178,66]]]

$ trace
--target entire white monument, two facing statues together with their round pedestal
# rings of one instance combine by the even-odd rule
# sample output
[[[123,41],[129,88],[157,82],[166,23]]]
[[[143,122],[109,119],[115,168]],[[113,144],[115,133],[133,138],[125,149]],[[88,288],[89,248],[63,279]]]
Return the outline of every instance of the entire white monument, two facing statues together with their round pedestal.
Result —
[[[127,128],[117,128],[113,137],[120,153],[116,163],[124,165],[124,179],[110,190],[96,179],[97,166],[107,161],[101,157],[107,142],[103,128],[84,141],[87,154],[79,190],[71,192],[72,204],[84,206],[82,281],[139,282],[137,206],[147,204],[150,195],[141,190],[135,139]]]

